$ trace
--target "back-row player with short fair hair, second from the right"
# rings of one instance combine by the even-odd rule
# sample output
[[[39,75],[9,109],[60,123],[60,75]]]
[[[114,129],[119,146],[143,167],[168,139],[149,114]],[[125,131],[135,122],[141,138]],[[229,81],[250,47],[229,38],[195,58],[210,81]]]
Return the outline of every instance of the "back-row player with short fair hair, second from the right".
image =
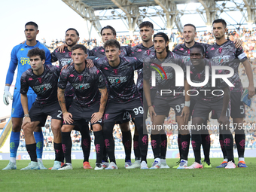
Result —
[[[210,44],[203,44],[203,43],[198,43],[196,42],[194,39],[197,36],[197,29],[193,24],[186,24],[183,27],[183,32],[182,35],[184,37],[184,44],[178,44],[173,50],[173,53],[177,53],[179,56],[181,56],[181,59],[183,59],[185,65],[191,65],[190,62],[190,49],[194,47],[194,45],[200,44],[204,47],[205,52],[207,47],[210,46]],[[239,39],[236,39],[234,41],[236,47],[241,47],[242,45],[242,41],[240,41]],[[197,97],[194,96],[192,98],[190,98],[190,114],[194,108],[194,104],[197,100]],[[207,119],[208,120],[208,119]],[[207,120],[204,123],[205,125],[207,125]],[[181,139],[180,139],[180,134],[178,134],[178,150],[181,153]],[[209,135],[209,131],[208,130],[203,130],[202,134],[202,145],[203,145],[203,153],[205,155],[205,159],[203,161],[203,167],[205,168],[211,168],[212,165],[210,163],[210,135]],[[178,168],[180,161],[177,162],[176,166],[173,166],[173,168]]]

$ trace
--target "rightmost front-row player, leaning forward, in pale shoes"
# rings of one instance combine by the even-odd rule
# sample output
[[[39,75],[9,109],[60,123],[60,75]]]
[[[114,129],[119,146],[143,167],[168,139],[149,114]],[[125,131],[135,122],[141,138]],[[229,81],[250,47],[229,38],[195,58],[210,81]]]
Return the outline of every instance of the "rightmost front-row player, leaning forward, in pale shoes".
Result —
[[[201,163],[201,142],[200,136],[201,129],[205,120],[209,117],[209,112],[215,110],[218,116],[218,123],[220,123],[220,134],[226,139],[225,148],[228,156],[227,169],[235,168],[233,163],[233,136],[229,130],[229,118],[227,116],[227,108],[230,99],[230,88],[221,78],[212,82],[212,71],[215,70],[216,75],[224,74],[223,71],[212,69],[213,66],[218,66],[214,62],[204,59],[204,48],[200,44],[194,45],[190,49],[190,82],[200,84],[198,87],[194,86],[197,90],[197,100],[192,112],[192,125],[191,127],[191,145],[194,150],[195,162],[186,169],[200,169],[203,168]],[[209,72],[208,82],[206,80],[206,72]],[[188,81],[188,79],[187,79]],[[202,83],[205,82],[203,85]],[[191,83],[190,83],[191,84]],[[207,91],[202,91],[207,90]],[[213,94],[214,93],[214,94]],[[190,96],[190,98],[193,96]]]

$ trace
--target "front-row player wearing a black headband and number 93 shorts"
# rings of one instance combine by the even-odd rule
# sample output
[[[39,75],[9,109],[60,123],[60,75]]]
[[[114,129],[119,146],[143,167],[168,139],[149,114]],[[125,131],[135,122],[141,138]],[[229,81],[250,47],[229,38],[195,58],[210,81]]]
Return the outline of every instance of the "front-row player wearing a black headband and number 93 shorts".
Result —
[[[157,130],[154,127],[163,125],[164,118],[168,116],[170,108],[175,110],[175,117],[178,123],[178,130],[181,133],[181,142],[187,141],[187,138],[190,138],[188,130],[181,130],[181,126],[187,125],[187,120],[189,116],[189,105],[190,105],[190,96],[180,93],[187,93],[189,85],[187,81],[184,81],[184,87],[176,87],[175,86],[175,70],[169,66],[163,66],[163,63],[175,63],[183,69],[185,72],[185,65],[182,61],[181,57],[175,53],[169,51],[169,38],[163,32],[158,32],[154,35],[154,52],[145,53],[147,58],[144,63],[145,66],[143,68],[144,71],[144,93],[145,98],[148,102],[148,110],[151,116],[153,128],[151,131],[151,146],[154,152],[154,163],[151,169],[159,169],[160,162],[160,144],[161,144],[161,136],[162,134],[166,134],[165,130]],[[157,71],[159,68],[163,70],[164,74],[166,74],[165,78],[161,78],[161,76],[157,73],[156,75],[156,88],[157,88],[157,96],[154,99],[154,105],[151,102],[151,90],[149,80],[151,78],[151,72]],[[162,75],[162,74],[161,74]],[[162,90],[172,90],[173,93],[163,93]],[[177,93],[178,92],[178,93]],[[181,150],[181,163],[182,166],[179,166],[178,169],[184,169],[187,166],[187,153],[189,150],[189,142],[186,145],[183,145]]]

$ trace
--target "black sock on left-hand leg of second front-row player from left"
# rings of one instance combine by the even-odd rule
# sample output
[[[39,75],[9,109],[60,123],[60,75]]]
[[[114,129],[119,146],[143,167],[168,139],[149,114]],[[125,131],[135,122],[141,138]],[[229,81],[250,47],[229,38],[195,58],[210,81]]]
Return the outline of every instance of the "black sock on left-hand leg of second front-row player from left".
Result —
[[[72,149],[72,140],[70,136],[71,132],[62,132],[62,150],[66,163],[71,163],[71,149]]]

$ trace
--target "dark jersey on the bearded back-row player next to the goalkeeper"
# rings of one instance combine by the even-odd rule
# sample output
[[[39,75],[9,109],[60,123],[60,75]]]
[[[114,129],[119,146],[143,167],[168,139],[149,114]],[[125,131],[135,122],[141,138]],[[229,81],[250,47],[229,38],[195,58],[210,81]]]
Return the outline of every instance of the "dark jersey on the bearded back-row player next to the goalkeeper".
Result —
[[[58,49],[53,50],[51,55],[52,62],[59,61],[59,67],[62,68],[63,66],[68,65],[70,62],[73,61],[71,58],[72,51],[69,51],[68,47],[65,47],[63,52],[59,52]],[[65,90],[65,96],[75,96],[74,88],[71,84],[67,84],[66,90]]]

